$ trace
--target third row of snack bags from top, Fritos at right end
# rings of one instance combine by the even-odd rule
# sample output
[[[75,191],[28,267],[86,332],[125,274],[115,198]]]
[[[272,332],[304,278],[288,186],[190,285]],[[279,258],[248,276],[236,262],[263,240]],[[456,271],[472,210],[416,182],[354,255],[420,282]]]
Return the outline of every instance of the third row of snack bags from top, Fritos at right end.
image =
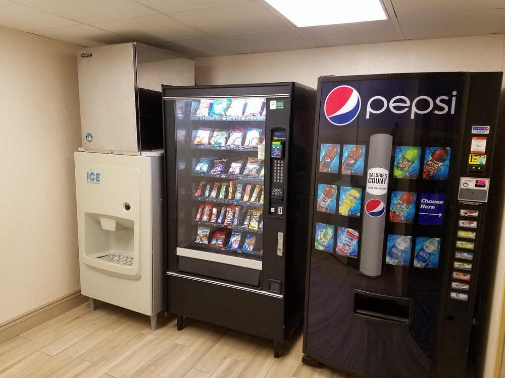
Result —
[[[245,159],[231,160],[201,157],[193,172],[263,177],[265,176],[265,166],[262,159],[254,157],[247,158],[247,161]]]

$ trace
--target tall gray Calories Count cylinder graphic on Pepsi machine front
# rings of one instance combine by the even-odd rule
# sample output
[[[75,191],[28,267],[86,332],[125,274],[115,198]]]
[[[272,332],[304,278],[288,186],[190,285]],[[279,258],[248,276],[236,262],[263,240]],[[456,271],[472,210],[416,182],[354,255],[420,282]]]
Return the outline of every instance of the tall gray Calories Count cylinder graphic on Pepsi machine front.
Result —
[[[374,134],[368,153],[365,212],[361,229],[360,272],[376,277],[381,274],[384,222],[386,220],[387,183],[393,137]]]

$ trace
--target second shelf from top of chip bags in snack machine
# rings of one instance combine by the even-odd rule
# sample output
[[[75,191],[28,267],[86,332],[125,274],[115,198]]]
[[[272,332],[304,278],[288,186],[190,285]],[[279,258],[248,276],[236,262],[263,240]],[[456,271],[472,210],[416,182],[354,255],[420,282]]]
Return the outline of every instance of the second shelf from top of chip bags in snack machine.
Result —
[[[262,129],[240,127],[233,130],[199,128],[193,138],[193,145],[258,147],[264,140]]]

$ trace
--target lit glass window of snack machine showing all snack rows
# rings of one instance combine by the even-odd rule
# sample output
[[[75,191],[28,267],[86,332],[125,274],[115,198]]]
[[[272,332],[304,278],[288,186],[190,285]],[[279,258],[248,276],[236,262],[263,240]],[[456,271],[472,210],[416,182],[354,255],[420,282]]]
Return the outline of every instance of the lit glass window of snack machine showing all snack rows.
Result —
[[[261,261],[265,98],[175,104],[178,246]]]

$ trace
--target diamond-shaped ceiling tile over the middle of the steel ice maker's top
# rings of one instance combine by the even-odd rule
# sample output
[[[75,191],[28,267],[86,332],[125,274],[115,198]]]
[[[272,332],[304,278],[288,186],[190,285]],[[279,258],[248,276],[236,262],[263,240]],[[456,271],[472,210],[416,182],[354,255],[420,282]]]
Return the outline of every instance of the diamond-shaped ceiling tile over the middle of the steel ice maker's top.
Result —
[[[135,17],[92,24],[97,28],[124,35],[131,41],[151,43],[198,38],[207,34],[193,29],[167,15]]]

